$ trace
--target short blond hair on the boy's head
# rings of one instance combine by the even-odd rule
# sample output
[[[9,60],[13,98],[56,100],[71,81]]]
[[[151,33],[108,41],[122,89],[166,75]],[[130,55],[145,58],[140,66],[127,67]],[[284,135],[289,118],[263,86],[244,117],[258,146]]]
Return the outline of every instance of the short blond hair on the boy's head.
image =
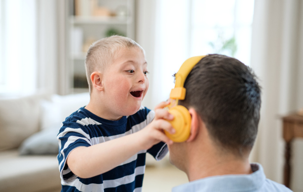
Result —
[[[104,71],[117,56],[117,52],[122,48],[138,47],[145,52],[143,48],[134,40],[119,35],[113,35],[103,39],[99,39],[92,43],[87,51],[85,58],[86,78],[88,82],[89,92],[91,92],[92,82],[90,75],[94,71]]]

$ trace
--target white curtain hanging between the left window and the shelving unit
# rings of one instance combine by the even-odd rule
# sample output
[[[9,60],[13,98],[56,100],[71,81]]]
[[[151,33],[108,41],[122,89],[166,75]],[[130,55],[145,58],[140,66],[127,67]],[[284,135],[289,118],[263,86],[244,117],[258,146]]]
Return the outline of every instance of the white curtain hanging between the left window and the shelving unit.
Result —
[[[62,1],[64,2],[64,1]],[[37,90],[58,93],[61,77],[59,74],[59,20],[57,0],[39,1],[37,4]],[[63,3],[64,5],[64,3]],[[62,34],[61,34],[62,35]],[[63,34],[64,35],[64,34]]]

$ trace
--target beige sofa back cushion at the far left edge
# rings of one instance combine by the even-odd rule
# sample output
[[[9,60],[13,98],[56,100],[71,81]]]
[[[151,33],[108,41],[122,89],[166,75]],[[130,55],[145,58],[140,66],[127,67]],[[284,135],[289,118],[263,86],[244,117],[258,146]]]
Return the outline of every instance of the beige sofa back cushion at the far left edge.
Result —
[[[48,95],[0,100],[0,151],[14,149],[39,130],[39,101]]]

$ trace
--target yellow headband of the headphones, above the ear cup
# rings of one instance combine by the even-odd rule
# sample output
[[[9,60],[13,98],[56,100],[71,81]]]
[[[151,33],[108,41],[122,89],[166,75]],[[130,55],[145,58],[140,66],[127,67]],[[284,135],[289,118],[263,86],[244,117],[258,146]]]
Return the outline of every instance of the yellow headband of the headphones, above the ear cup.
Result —
[[[176,83],[175,88],[171,90],[170,98],[173,100],[184,100],[186,89],[184,88],[184,82],[186,77],[192,70],[192,68],[206,56],[195,56],[187,59],[180,67],[179,71],[176,73]]]

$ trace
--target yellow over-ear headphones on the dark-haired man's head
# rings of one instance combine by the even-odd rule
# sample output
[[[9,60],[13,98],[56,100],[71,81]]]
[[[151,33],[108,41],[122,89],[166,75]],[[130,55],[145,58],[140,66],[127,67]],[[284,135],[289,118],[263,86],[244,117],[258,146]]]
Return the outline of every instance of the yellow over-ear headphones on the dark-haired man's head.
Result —
[[[172,124],[176,132],[174,134],[170,134],[165,131],[165,134],[174,142],[183,142],[189,137],[191,117],[185,107],[178,105],[178,101],[185,99],[186,89],[184,88],[184,82],[186,77],[192,68],[204,57],[206,56],[196,56],[187,59],[175,75],[175,88],[171,90],[171,103],[166,107],[166,109],[168,109],[169,113],[174,116],[174,119],[169,122]]]

